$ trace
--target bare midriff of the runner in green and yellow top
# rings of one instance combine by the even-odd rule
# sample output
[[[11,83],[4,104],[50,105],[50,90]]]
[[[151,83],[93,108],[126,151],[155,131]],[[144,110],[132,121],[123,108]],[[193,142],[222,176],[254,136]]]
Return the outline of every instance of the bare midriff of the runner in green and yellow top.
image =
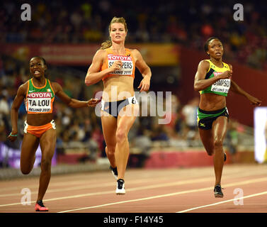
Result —
[[[219,94],[205,93],[200,95],[200,109],[216,111],[226,106],[226,97]]]

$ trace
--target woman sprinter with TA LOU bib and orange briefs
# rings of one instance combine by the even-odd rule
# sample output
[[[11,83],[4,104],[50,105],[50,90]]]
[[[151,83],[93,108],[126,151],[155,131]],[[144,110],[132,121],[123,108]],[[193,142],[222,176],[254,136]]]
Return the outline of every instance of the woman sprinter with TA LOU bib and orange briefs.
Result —
[[[96,106],[100,101],[98,99],[90,99],[89,101],[71,99],[63,92],[62,87],[57,82],[50,82],[49,79],[45,78],[45,70],[47,70],[47,65],[44,58],[32,57],[30,59],[32,78],[18,88],[11,107],[12,131],[8,135],[8,140],[16,140],[18,109],[24,100],[27,120],[25,121],[25,134],[21,145],[21,172],[23,175],[28,175],[33,169],[35,152],[39,144],[42,150],[39,192],[35,211],[48,211],[48,208],[42,203],[42,198],[50,182],[51,161],[56,145],[56,128],[52,114],[55,95],[73,108]]]

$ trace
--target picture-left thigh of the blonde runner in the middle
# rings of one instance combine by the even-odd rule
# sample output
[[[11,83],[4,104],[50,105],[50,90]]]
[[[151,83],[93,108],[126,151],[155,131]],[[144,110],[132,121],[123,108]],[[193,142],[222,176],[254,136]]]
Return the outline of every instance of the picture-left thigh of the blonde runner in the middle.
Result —
[[[111,115],[101,116],[103,135],[108,146],[116,145],[117,119]]]

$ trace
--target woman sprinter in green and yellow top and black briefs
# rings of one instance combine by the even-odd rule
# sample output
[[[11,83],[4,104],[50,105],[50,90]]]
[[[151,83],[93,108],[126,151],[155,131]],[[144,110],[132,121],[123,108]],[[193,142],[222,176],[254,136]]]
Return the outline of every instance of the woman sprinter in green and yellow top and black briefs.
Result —
[[[229,118],[226,96],[231,90],[245,96],[256,106],[259,106],[261,101],[245,92],[232,80],[232,65],[222,62],[224,49],[218,38],[209,38],[204,49],[210,59],[200,61],[194,82],[195,91],[200,92],[198,128],[206,152],[213,155],[215,197],[222,198],[222,168],[226,160],[222,143]]]

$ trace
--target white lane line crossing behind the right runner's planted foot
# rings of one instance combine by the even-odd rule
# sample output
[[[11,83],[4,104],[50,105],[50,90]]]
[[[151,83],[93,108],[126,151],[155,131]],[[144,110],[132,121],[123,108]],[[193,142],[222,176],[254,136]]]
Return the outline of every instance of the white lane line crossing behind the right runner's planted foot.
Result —
[[[235,183],[231,183],[231,184],[225,184],[225,187],[231,187],[231,186],[241,185],[241,184],[251,184],[251,183],[256,183],[256,182],[264,182],[266,180],[267,180],[267,177],[262,177],[262,178],[259,178],[259,179],[251,179],[251,180],[245,180],[245,181],[242,181],[242,182],[235,182]],[[125,200],[125,201],[118,201],[118,202],[114,202],[114,203],[110,203],[110,204],[101,204],[101,205],[97,205],[97,206],[81,207],[81,208],[78,208],[78,209],[71,209],[71,210],[67,210],[67,211],[59,211],[58,213],[81,211],[81,210],[85,210],[85,209],[93,209],[93,208],[98,208],[98,207],[103,207],[103,206],[110,206],[110,205],[116,205],[116,204],[125,204],[125,203],[134,202],[134,201],[144,201],[144,200],[149,200],[149,199],[158,199],[158,198],[164,198],[164,197],[167,197],[167,196],[176,196],[178,194],[187,194],[187,193],[193,193],[193,192],[203,192],[203,191],[207,191],[207,190],[211,190],[211,189],[213,189],[213,187],[205,187],[205,188],[202,188],[202,189],[192,189],[192,190],[186,190],[186,191],[182,191],[182,192],[174,192],[174,193],[169,193],[169,194],[161,194],[161,195],[157,195],[157,196],[149,196],[149,197],[144,197],[144,198],[141,198],[141,199],[131,199],[131,200]]]

